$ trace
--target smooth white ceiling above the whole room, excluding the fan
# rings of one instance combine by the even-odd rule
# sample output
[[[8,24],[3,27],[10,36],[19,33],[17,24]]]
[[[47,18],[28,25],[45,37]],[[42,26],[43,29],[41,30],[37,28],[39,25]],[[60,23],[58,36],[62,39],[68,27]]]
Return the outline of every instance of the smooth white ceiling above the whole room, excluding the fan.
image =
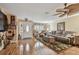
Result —
[[[0,3],[0,6],[18,18],[28,18],[35,22],[51,22],[58,19],[57,16],[52,15],[56,13],[57,8],[64,7],[63,3]]]

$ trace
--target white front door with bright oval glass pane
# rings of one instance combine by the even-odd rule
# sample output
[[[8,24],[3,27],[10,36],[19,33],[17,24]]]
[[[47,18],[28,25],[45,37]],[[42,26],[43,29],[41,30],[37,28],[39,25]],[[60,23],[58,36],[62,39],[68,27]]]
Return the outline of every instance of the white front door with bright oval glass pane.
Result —
[[[32,23],[23,23],[22,24],[22,33],[21,33],[21,36],[22,36],[22,39],[25,39],[25,38],[32,38]]]

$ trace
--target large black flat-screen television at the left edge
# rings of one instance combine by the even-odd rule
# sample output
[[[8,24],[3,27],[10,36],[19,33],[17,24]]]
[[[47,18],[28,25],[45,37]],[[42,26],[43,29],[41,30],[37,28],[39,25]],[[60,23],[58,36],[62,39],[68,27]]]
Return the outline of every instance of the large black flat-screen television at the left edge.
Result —
[[[4,32],[7,30],[8,22],[7,22],[7,16],[0,11],[0,32]]]

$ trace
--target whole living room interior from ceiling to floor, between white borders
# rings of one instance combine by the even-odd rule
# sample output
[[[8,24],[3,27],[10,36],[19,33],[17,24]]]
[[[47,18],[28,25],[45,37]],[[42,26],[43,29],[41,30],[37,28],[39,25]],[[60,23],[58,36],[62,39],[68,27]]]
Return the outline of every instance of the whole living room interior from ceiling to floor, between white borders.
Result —
[[[0,54],[79,55],[78,7],[79,3],[0,3]]]

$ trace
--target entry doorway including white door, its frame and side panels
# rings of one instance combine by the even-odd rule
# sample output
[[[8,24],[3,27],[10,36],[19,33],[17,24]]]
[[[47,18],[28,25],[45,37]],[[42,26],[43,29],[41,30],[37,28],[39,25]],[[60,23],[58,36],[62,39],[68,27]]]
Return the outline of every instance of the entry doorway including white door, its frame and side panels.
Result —
[[[32,38],[33,23],[25,20],[19,21],[18,32],[20,39]]]

